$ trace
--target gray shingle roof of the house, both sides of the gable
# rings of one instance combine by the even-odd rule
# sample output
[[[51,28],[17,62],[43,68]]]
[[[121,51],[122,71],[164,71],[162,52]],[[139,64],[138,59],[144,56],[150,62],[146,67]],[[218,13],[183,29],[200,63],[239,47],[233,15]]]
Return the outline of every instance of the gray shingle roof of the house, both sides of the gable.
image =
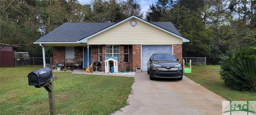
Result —
[[[172,22],[151,22],[152,24],[159,26],[165,30],[168,30],[174,34],[182,36],[180,32],[172,25]],[[89,22],[89,23],[75,23],[67,22],[52,30],[42,38],[36,40],[36,42],[76,42],[87,36],[95,34],[109,26],[116,23],[108,22]]]

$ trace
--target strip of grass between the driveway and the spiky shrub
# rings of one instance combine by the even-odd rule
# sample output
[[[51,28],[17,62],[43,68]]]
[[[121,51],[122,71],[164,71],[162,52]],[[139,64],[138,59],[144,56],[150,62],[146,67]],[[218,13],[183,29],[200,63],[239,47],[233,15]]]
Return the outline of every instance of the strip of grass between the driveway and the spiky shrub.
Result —
[[[229,101],[256,101],[256,92],[242,92],[224,85],[219,72],[220,65],[192,66],[192,73],[184,75]]]

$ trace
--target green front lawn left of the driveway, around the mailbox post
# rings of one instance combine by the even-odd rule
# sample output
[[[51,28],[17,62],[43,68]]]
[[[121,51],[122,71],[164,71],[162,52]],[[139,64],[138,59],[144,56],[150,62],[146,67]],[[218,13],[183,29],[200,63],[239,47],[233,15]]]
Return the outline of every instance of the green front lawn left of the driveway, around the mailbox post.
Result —
[[[48,115],[48,92],[28,85],[28,73],[42,67],[0,68],[1,115]],[[127,105],[133,77],[53,72],[56,114],[109,115]]]

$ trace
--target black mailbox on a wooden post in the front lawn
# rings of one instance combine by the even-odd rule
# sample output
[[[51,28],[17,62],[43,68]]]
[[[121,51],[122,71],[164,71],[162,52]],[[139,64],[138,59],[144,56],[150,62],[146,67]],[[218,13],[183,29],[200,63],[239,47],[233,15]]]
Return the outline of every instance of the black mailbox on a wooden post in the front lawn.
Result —
[[[44,67],[28,74],[28,85],[38,87],[52,79],[52,69]]]

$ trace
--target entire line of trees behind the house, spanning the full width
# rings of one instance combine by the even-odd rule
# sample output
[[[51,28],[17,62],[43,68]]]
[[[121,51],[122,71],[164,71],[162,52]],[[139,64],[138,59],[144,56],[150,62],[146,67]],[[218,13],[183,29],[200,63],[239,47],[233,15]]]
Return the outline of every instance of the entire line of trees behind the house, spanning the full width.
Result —
[[[0,43],[41,57],[33,44],[65,22],[119,22],[131,15],[148,22],[172,22],[184,38],[183,56],[218,63],[226,51],[256,44],[256,0],[158,0],[143,17],[136,0],[0,0]],[[46,47],[46,57],[52,47]]]

